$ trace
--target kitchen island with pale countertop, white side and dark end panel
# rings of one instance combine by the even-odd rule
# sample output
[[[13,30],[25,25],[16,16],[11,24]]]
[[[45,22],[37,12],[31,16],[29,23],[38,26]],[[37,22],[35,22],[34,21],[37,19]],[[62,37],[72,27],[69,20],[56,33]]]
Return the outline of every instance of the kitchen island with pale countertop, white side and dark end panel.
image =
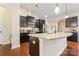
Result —
[[[29,48],[30,55],[36,54],[37,56],[59,56],[67,46],[67,37],[71,36],[72,33],[58,32],[58,33],[36,33],[28,34],[30,37],[36,37],[38,39],[31,39]],[[37,41],[38,40],[38,41]],[[38,49],[37,49],[37,48]],[[33,48],[33,49],[32,49]],[[35,56],[35,55],[33,55]]]

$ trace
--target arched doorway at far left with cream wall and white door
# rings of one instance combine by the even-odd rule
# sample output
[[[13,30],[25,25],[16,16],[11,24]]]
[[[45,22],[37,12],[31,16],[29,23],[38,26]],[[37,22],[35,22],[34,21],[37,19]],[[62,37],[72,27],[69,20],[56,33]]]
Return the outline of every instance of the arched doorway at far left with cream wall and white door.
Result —
[[[11,49],[11,14],[10,10],[0,6],[0,55]]]

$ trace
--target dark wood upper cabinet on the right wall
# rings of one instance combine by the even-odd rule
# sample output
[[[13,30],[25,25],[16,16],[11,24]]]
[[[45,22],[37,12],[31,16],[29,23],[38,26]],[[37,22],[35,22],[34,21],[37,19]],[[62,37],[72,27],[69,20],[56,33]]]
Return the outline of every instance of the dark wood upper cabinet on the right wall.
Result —
[[[66,27],[78,27],[78,16],[65,19]]]

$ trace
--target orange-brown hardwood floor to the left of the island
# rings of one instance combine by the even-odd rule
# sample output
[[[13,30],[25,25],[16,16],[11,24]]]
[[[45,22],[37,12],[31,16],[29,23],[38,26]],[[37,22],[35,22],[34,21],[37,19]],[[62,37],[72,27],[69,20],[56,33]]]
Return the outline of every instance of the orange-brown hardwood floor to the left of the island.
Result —
[[[28,42],[22,43],[20,48],[12,49],[7,53],[6,52],[1,53],[0,51],[0,55],[1,56],[29,56],[29,43]]]

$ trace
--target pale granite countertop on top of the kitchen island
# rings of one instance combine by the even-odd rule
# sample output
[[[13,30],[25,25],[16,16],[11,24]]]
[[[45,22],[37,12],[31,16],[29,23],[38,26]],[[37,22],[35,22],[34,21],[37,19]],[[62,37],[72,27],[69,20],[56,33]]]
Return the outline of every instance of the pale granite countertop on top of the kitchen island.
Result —
[[[68,37],[71,36],[72,33],[65,33],[65,32],[57,32],[57,33],[36,33],[36,34],[28,34],[29,36],[32,37],[37,37],[37,38],[43,38],[43,39],[58,39],[58,38],[63,38],[63,37]]]

